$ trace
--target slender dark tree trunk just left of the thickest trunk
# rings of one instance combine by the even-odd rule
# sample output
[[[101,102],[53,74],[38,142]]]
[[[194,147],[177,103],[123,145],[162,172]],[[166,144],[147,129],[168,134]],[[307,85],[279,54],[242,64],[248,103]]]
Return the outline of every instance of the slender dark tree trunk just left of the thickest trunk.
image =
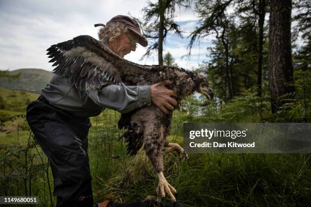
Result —
[[[257,73],[257,95],[261,96],[261,83],[262,83],[262,50],[263,50],[263,26],[265,22],[265,0],[259,0],[259,41],[258,41],[258,73]]]

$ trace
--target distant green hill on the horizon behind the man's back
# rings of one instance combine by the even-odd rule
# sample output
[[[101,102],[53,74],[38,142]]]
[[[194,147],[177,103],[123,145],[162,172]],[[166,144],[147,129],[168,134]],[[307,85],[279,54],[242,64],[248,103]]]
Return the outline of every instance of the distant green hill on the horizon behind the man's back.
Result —
[[[40,93],[40,89],[45,87],[52,77],[52,72],[35,68],[18,69],[9,73],[12,75],[21,73],[21,76],[16,80],[2,78],[0,87],[31,93]]]

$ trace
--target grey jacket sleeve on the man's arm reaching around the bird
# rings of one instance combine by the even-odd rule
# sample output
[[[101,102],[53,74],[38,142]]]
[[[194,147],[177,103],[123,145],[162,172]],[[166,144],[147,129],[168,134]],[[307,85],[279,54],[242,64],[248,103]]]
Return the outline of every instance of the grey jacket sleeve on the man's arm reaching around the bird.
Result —
[[[150,86],[108,85],[102,89],[85,90],[86,94],[99,106],[116,110],[121,114],[150,105]]]

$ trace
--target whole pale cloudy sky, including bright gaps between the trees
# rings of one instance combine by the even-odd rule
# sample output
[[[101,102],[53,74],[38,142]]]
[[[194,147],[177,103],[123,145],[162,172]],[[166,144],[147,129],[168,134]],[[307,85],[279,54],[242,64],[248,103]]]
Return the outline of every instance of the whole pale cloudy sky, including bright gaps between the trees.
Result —
[[[141,10],[146,5],[144,0],[0,0],[0,70],[42,68],[52,71],[54,67],[46,55],[49,46],[81,34],[98,39],[100,27],[94,27],[94,24],[106,24],[116,15],[131,14],[141,18]],[[179,66],[190,70],[207,60],[206,48],[211,46],[213,40],[212,37],[200,40],[200,46],[197,44],[192,49],[190,60],[181,59],[187,53],[190,41],[187,37],[198,20],[192,9],[176,9],[175,21],[184,31],[184,38],[169,34],[164,45],[163,55],[170,52]],[[156,53],[149,59],[140,60],[145,51],[139,45],[135,52],[125,58],[140,64],[158,64]]]

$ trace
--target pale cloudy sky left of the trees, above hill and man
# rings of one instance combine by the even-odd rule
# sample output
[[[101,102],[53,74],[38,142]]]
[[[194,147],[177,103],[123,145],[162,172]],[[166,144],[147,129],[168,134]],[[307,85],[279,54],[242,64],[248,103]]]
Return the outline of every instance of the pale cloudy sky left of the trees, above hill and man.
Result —
[[[119,5],[122,5],[120,7]],[[55,43],[80,34],[97,38],[95,23],[115,15],[141,15],[145,1],[7,1],[0,7],[0,69],[52,70],[45,55]]]

